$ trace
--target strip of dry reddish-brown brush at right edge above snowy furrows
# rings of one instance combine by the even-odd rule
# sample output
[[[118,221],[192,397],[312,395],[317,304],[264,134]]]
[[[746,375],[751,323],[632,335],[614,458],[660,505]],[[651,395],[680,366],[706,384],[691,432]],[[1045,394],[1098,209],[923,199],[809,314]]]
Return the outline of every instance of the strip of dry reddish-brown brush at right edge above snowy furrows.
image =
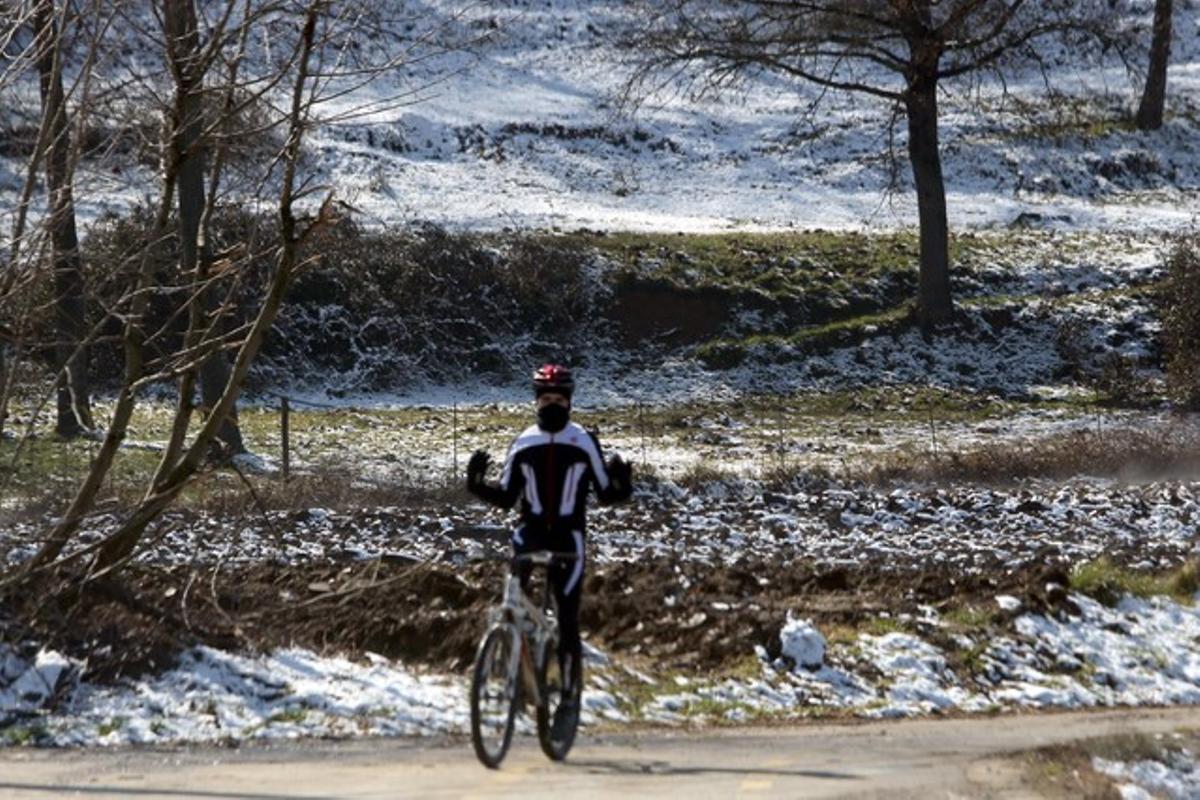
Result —
[[[1072,431],[1040,439],[1006,440],[940,456],[896,456],[865,476],[895,481],[1009,483],[1075,476],[1128,481],[1200,475],[1200,428],[1164,423],[1133,429]]]

